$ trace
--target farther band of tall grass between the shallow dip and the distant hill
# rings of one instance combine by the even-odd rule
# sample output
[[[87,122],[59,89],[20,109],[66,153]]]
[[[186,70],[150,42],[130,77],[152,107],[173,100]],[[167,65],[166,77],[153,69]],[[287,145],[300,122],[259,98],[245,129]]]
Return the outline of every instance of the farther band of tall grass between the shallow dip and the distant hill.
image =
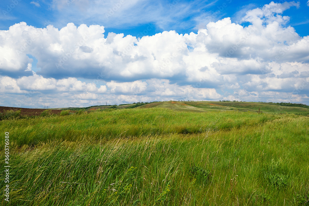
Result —
[[[2,121],[0,130],[11,131],[12,143],[20,147],[49,140],[81,141],[84,137],[100,140],[156,134],[198,134],[209,129],[230,130],[245,125],[254,126],[279,117],[250,112],[192,113],[162,108],[121,109]]]

